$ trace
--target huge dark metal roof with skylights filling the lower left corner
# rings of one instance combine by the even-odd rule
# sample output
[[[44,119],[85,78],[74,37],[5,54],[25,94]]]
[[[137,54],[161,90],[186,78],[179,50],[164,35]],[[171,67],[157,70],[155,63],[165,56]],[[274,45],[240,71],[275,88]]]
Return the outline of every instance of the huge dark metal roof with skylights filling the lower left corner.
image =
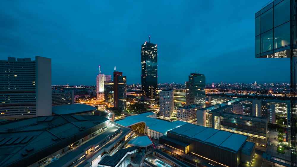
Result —
[[[35,156],[35,154],[38,157],[37,153],[40,151],[53,150],[52,148],[55,148],[56,145],[66,143],[63,140],[68,141],[67,138],[88,133],[86,130],[101,123],[109,122],[107,118],[99,115],[81,116],[81,118],[83,120],[77,120],[70,115],[60,115],[0,122],[0,136],[2,138],[0,139],[0,166],[24,161],[27,156]],[[61,148],[59,147],[59,149]],[[48,152],[48,154],[51,153]],[[35,163],[36,161],[29,162],[26,160],[24,162]],[[25,163],[23,165],[28,166]]]

